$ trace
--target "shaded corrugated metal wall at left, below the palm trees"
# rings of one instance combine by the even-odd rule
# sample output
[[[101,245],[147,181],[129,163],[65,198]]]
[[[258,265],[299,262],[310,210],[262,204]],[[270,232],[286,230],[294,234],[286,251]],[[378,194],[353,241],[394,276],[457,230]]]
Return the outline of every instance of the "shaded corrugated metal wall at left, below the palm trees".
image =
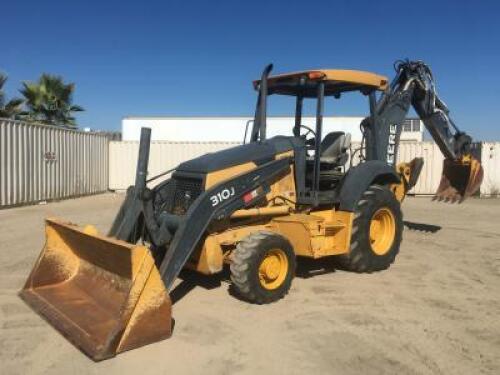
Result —
[[[0,207],[107,188],[106,136],[0,119]]]

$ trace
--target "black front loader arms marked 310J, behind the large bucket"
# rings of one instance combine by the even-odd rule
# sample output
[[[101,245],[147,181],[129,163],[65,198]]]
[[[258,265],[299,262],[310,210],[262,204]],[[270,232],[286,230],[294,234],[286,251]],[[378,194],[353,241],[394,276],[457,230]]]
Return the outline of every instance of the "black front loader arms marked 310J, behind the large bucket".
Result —
[[[136,185],[127,191],[122,207],[108,233],[124,241],[138,240],[141,221],[143,232],[151,242],[154,257],[160,260],[159,271],[165,288],[170,290],[179,272],[196,249],[207,227],[214,219],[229,217],[234,211],[252,205],[270,189],[270,183],[279,175],[290,170],[292,158],[272,160],[257,168],[225,180],[203,193],[191,204],[185,215],[167,212],[157,215],[153,207],[153,193],[146,187],[151,130],[141,130],[139,158],[136,170]],[[246,193],[257,194],[251,201],[245,201]],[[166,253],[160,249],[166,247]]]

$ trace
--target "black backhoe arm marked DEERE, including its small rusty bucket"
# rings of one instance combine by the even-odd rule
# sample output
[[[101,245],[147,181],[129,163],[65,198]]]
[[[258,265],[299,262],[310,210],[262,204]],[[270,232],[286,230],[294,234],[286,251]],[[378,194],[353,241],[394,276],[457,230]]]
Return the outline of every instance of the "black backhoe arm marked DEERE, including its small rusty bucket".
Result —
[[[471,156],[472,138],[460,131],[436,92],[434,77],[421,61],[400,61],[396,76],[377,101],[370,94],[371,116],[362,123],[366,160],[395,166],[403,121],[413,107],[445,157],[443,177],[436,196],[463,200],[482,181],[483,171]]]

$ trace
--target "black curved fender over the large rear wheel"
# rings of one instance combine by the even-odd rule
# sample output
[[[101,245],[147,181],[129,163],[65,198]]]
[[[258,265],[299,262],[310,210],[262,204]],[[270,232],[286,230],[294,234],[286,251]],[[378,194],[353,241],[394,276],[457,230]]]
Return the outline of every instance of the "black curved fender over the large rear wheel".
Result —
[[[400,177],[393,167],[380,160],[369,160],[351,168],[340,186],[339,209],[354,211],[358,200],[374,182],[394,184],[400,182]]]

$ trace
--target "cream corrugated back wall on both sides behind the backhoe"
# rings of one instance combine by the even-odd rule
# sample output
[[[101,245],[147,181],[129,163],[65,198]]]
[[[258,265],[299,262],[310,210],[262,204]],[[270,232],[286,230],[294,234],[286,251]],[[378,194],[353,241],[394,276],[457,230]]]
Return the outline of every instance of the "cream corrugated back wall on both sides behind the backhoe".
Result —
[[[239,143],[226,142],[166,142],[151,143],[149,175],[154,176],[168,169],[175,168],[182,161],[215,152]],[[481,157],[485,170],[485,178],[481,186],[481,195],[496,195],[500,189],[500,143],[482,143],[475,145],[475,154]],[[354,143],[353,149],[359,147]],[[109,189],[124,190],[134,183],[138,142],[110,142]],[[358,154],[353,164],[357,164]],[[410,193],[417,195],[433,195],[441,179],[443,155],[434,142],[405,142],[399,147],[398,162],[411,161],[415,157],[423,157],[424,167],[417,185]],[[155,181],[152,185],[155,185]]]

